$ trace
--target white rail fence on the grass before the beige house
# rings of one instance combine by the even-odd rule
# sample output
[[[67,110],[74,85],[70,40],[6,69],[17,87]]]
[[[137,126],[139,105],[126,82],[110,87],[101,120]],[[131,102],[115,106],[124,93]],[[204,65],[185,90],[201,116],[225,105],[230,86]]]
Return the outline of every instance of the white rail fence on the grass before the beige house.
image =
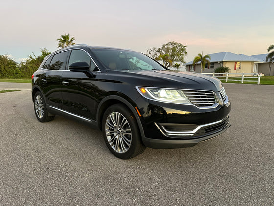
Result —
[[[258,73],[201,73],[201,74],[205,74],[205,75],[213,75],[213,77],[215,75],[225,75],[225,76],[218,76],[218,77],[226,77],[226,82],[228,81],[241,81],[242,83],[244,83],[244,81],[246,82],[258,82],[258,84],[260,84],[260,80],[261,80],[261,77],[262,75],[261,74],[258,74]],[[231,75],[238,75],[238,76],[231,76]],[[251,77],[251,75],[253,76],[257,76],[257,77]],[[241,78],[241,80],[239,79],[228,79],[229,78]],[[256,78],[257,80],[244,80],[244,78]]]

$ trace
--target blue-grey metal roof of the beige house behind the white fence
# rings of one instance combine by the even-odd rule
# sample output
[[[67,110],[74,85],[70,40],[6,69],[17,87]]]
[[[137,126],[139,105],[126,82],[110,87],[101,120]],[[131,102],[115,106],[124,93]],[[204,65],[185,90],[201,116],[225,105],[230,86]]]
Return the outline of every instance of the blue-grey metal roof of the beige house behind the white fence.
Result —
[[[260,59],[257,59],[255,57],[247,56],[244,54],[235,54],[231,52],[220,52],[220,53],[212,53],[208,54],[211,57],[210,62],[222,62],[222,61],[250,61],[250,62],[255,62],[255,61],[260,61]],[[184,65],[192,65],[193,61],[187,62]],[[197,63],[199,64],[200,61]]]

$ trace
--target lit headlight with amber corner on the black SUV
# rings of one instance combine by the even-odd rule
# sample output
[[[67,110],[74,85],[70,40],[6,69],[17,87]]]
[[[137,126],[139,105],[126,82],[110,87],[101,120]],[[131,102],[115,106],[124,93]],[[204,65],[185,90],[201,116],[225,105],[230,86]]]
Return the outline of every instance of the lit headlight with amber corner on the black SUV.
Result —
[[[154,87],[136,87],[147,99],[167,103],[191,104],[180,89],[165,89]]]

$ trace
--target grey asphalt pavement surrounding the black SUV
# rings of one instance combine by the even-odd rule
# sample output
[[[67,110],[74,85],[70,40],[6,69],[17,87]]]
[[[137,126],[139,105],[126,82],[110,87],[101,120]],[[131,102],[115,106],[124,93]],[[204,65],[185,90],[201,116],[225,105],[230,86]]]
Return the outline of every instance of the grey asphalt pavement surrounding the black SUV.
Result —
[[[224,86],[225,133],[130,160],[80,122],[40,123],[30,90],[0,94],[0,205],[274,205],[274,86]]]

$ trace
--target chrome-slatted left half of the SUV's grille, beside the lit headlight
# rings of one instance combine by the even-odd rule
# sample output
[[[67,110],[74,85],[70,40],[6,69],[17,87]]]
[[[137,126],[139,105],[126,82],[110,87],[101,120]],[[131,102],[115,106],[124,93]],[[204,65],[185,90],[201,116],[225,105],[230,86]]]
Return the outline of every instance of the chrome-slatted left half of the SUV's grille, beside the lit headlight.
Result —
[[[184,95],[198,107],[211,107],[216,103],[214,92],[203,90],[183,90]]]

